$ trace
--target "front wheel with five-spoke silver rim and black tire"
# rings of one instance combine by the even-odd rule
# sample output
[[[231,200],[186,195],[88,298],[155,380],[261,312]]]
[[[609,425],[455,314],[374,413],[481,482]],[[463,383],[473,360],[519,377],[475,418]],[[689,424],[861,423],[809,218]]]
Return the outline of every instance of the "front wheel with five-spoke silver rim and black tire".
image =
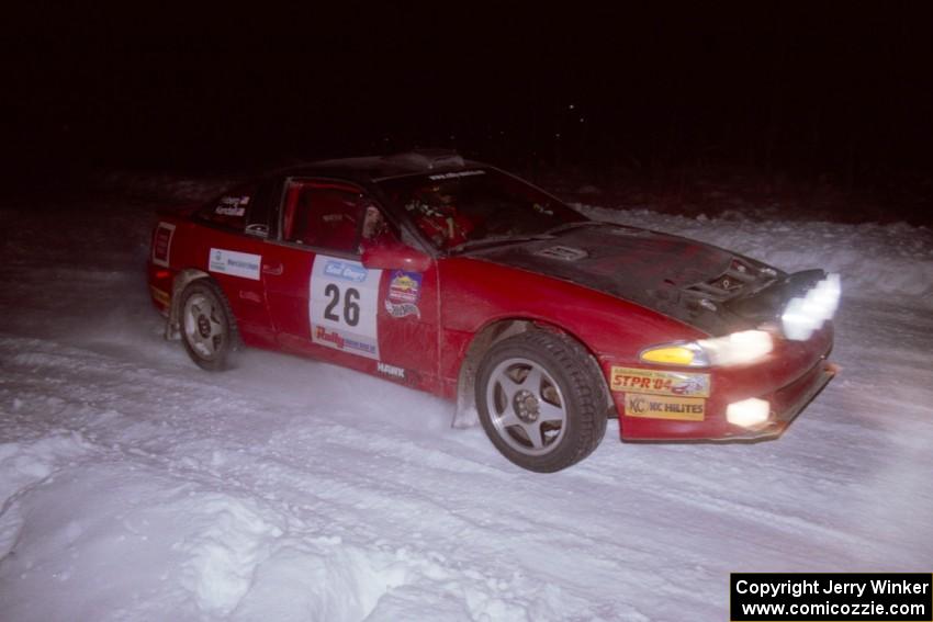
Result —
[[[599,367],[576,341],[530,330],[494,344],[480,364],[486,436],[524,468],[552,473],[589,455],[606,432]]]

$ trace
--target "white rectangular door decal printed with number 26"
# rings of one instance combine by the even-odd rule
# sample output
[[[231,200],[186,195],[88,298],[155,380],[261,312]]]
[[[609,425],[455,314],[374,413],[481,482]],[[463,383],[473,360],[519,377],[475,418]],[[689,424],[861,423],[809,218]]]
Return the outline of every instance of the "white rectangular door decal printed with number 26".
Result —
[[[311,270],[311,340],[315,343],[379,359],[375,314],[382,270],[318,255]]]

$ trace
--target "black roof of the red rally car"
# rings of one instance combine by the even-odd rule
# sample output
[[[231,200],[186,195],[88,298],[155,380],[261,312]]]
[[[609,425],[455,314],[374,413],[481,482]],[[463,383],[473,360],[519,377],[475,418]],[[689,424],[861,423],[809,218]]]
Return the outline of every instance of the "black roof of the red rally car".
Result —
[[[333,176],[363,183],[434,171],[484,166],[448,149],[419,149],[392,156],[340,158],[295,165],[279,171],[288,177]]]

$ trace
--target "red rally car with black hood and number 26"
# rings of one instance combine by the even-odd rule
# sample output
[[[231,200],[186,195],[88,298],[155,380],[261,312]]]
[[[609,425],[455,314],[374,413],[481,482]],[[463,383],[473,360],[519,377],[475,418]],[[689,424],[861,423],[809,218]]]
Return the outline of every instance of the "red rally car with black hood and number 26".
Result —
[[[595,222],[440,151],[316,162],[166,213],[153,301],[206,370],[240,343],[475,408],[538,472],[627,440],[779,434],[833,375],[839,278]]]

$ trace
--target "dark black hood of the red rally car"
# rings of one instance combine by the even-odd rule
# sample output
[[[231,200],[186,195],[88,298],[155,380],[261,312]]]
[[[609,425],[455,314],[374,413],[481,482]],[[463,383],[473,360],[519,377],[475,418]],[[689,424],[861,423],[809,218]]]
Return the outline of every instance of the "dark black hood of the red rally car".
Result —
[[[596,290],[713,336],[775,319],[791,290],[786,274],[758,261],[604,223],[469,255]]]

